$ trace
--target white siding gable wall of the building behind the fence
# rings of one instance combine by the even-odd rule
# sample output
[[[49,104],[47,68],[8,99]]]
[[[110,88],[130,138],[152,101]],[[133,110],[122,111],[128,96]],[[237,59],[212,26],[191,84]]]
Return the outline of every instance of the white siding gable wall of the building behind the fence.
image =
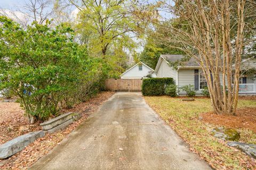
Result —
[[[134,66],[131,70],[124,73],[121,79],[141,79],[149,74],[150,70],[147,66],[142,64],[142,70],[139,70],[139,65]]]

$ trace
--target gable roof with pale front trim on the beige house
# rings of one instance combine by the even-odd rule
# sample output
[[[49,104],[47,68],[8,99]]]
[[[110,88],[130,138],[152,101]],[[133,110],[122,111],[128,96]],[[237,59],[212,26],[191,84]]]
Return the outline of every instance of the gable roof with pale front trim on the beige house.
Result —
[[[169,63],[181,61],[183,57],[185,56],[184,55],[160,55],[156,65],[155,73],[157,73],[162,60],[164,60],[167,64],[169,64]],[[182,62],[182,61],[179,62],[178,67],[199,67],[199,64],[195,61],[194,58],[190,58],[190,60],[187,62]]]

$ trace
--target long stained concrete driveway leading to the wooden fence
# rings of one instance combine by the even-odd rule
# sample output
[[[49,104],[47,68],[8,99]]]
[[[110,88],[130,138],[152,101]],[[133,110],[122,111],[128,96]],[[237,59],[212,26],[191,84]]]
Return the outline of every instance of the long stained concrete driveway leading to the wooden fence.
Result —
[[[117,92],[31,169],[211,169],[145,103]]]

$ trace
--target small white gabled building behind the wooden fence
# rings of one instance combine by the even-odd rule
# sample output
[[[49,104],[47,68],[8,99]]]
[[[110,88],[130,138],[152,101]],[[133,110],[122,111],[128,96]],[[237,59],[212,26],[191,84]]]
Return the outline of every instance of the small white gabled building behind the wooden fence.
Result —
[[[139,62],[133,65],[130,69],[126,70],[120,75],[120,77],[121,79],[142,79],[150,73],[154,74],[154,70],[146,64]],[[153,77],[155,77],[155,75],[153,75]]]

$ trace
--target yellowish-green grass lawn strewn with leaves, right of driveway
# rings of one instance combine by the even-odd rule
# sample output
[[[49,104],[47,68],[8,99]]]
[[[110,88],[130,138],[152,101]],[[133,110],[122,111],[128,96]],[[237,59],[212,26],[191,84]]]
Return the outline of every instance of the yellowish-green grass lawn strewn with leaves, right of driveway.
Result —
[[[238,149],[228,147],[225,142],[213,137],[211,130],[218,125],[198,119],[199,114],[211,112],[210,99],[196,98],[195,101],[182,101],[181,98],[145,97],[146,102],[170,126],[189,143],[190,150],[199,154],[215,169],[256,169],[255,159]],[[239,100],[239,108],[255,107],[254,100]],[[223,120],[225,121],[225,120]],[[242,142],[256,144],[256,133],[244,128],[237,128]]]

